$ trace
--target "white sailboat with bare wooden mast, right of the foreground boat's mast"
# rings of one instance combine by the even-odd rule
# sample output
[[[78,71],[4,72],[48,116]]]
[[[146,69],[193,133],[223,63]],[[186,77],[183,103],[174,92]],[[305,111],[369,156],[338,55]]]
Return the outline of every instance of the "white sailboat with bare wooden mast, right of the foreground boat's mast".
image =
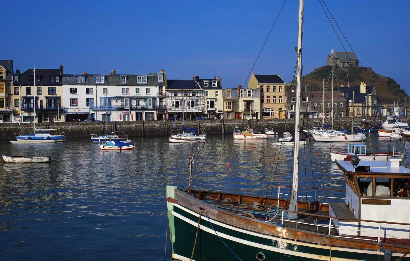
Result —
[[[332,68],[332,104],[333,104],[333,80],[334,80],[335,68]],[[323,101],[324,102],[324,101]],[[347,134],[344,131],[333,130],[333,106],[332,106],[332,128],[330,130],[324,130],[321,132],[313,133],[312,136],[317,142],[357,142],[364,141],[366,135],[364,133],[352,133]]]

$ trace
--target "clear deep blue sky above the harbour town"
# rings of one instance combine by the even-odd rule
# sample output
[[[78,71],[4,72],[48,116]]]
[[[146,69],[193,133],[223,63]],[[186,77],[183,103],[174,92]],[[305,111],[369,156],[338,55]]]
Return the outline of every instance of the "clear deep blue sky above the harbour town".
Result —
[[[292,79],[298,1],[287,0],[253,69]],[[14,69],[146,74],[168,79],[222,77],[224,88],[245,81],[282,0],[271,1],[9,1],[0,58]],[[326,0],[363,66],[395,79],[408,92],[410,1]],[[16,12],[14,12],[16,11]],[[347,46],[347,45],[346,45]],[[303,70],[343,51],[319,0],[305,2]]]

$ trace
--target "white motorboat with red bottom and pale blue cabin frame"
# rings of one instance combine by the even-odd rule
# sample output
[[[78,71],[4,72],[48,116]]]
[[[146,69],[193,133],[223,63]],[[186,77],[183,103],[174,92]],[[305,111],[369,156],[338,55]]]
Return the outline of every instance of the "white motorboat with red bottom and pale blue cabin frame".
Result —
[[[348,144],[347,145],[347,152],[346,151],[339,151],[337,148],[333,147],[330,150],[330,158],[332,162],[335,160],[344,160],[346,157],[351,157],[356,155],[359,157],[360,160],[364,161],[386,161],[390,157],[403,157],[404,154],[401,152],[367,152],[366,144]]]

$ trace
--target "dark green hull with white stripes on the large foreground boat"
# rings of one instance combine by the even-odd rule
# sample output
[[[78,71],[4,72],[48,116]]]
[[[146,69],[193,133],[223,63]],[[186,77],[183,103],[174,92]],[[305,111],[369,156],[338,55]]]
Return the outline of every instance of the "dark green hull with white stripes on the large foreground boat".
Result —
[[[226,211],[210,207],[192,196],[184,196],[179,191],[173,191],[172,188],[175,187],[167,186],[166,197],[174,259],[191,260],[195,242],[196,247],[192,260],[196,261],[378,261],[380,255],[383,255],[383,252],[378,251],[379,245],[374,242],[353,241],[349,243],[346,240],[346,247],[341,247],[336,244],[340,245],[340,241],[344,239],[339,238],[331,239],[330,251],[328,238],[314,232],[305,233],[298,229],[294,231],[278,224],[234,216]],[[202,216],[198,226],[201,212]],[[197,227],[199,229],[196,236]],[[312,234],[312,237],[308,234]],[[396,260],[401,255],[393,251],[392,260]],[[410,258],[405,257],[402,260],[408,261]]]

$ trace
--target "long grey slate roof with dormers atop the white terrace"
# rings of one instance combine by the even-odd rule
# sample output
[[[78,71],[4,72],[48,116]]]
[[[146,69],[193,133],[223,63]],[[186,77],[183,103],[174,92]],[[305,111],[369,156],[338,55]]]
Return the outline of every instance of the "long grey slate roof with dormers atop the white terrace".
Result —
[[[96,83],[94,76],[104,76],[104,83]],[[85,83],[75,83],[75,76],[85,76]],[[121,76],[127,77],[127,83],[121,83]],[[147,76],[147,83],[137,83],[137,76]],[[106,86],[164,86],[158,83],[158,74],[64,74],[63,85],[106,85]]]

